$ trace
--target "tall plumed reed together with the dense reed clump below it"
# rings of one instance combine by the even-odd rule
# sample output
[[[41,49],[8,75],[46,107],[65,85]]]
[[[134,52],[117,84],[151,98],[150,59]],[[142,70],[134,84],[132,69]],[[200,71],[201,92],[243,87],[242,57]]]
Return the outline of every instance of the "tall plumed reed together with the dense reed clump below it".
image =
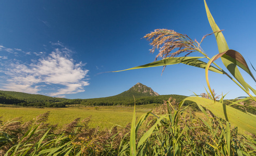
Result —
[[[255,114],[231,107],[231,105],[242,106],[241,102],[249,99],[252,101],[250,109],[255,109],[252,106],[256,102],[256,90],[243,79],[238,67],[247,72],[255,82],[256,80],[242,55],[228,48],[222,30],[215,23],[205,1],[204,4],[213,30],[213,33],[208,35],[215,35],[219,51],[217,55],[210,58],[200,46],[208,35],[203,36],[201,42],[198,42],[174,30],[157,29],[144,36],[151,41],[150,44],[153,46],[151,53],[159,49],[155,61],[126,70],[157,66],[163,66],[164,70],[167,65],[184,63],[205,70],[209,91],[206,90],[202,95],[195,94],[187,97],[176,105],[167,101],[166,108],[162,107],[164,110],[160,111],[165,112],[164,114],[149,112],[141,116],[137,121],[138,124],[135,124],[136,119],[133,118],[129,146],[124,146],[126,149],[122,150],[121,155],[127,155],[127,151],[130,155],[256,155]],[[190,57],[191,53],[201,56]],[[157,61],[157,58],[162,60]],[[219,58],[222,59],[229,73],[214,62]],[[208,61],[205,62],[202,59],[208,59]],[[224,104],[225,95],[220,100],[216,100],[218,97],[214,94],[209,82],[209,70],[226,75],[243,92],[246,92],[248,97],[230,101],[229,106]],[[205,118],[196,118],[191,111],[185,113],[188,107],[182,106],[186,100],[196,102]],[[148,124],[150,128],[142,130],[144,132],[139,131],[142,123],[147,124],[146,119],[149,118],[149,114],[155,116]],[[250,136],[239,134],[238,128],[245,129]],[[140,133],[142,136],[138,137]]]

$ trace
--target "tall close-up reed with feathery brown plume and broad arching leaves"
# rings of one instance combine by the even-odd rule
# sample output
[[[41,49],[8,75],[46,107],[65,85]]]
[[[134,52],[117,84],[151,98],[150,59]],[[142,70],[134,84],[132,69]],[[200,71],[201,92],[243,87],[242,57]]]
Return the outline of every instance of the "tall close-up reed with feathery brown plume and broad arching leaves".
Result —
[[[254,80],[254,82],[256,82],[246,60],[238,51],[228,48],[225,37],[222,34],[222,30],[220,30],[217,24],[215,23],[205,1],[204,4],[206,14],[208,16],[208,20],[213,30],[213,33],[203,36],[201,42],[198,42],[197,40],[193,41],[189,36],[180,34],[178,32],[175,32],[174,30],[157,29],[154,32],[145,35],[144,38],[147,38],[147,40],[151,41],[150,44],[153,46],[153,48],[151,49],[151,53],[154,53],[156,49],[159,49],[159,54],[156,56],[156,59],[160,57],[162,58],[162,60],[156,61],[155,59],[155,61],[152,63],[144,64],[142,66],[133,67],[126,70],[149,68],[156,66],[164,66],[165,68],[167,65],[173,65],[178,63],[184,63],[189,66],[202,68],[205,70],[205,79],[209,88],[207,95],[210,97],[210,99],[206,99],[200,96],[194,96],[188,97],[184,100],[196,102],[198,106],[209,109],[213,114],[219,116],[227,122],[234,124],[239,128],[245,129],[250,133],[256,134],[255,115],[242,112],[238,109],[235,109],[227,105],[223,105],[222,102],[216,101],[216,97],[212,92],[208,76],[209,70],[215,73],[226,75],[231,81],[238,85],[243,90],[243,92],[248,94],[248,97],[240,99],[239,102],[245,100],[252,100],[256,102],[256,90],[243,79],[243,76],[238,69],[239,67],[240,69],[245,71]],[[200,45],[206,36],[212,34],[215,35],[219,53],[210,58],[201,48]],[[190,57],[189,55],[191,53],[197,53],[199,54],[199,56]],[[182,56],[179,57],[180,55]],[[218,64],[214,62],[219,58],[221,58],[227,71],[222,69],[220,66],[218,66]],[[208,61],[205,62],[202,59],[207,59]],[[211,64],[213,64],[213,66],[211,66]],[[231,105],[240,105],[239,102],[231,101]]]

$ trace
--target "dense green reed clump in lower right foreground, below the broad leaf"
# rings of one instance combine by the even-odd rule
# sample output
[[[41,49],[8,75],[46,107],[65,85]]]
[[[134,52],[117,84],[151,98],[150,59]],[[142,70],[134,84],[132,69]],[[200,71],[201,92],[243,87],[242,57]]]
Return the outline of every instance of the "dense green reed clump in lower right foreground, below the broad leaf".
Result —
[[[133,118],[130,141],[119,155],[256,155],[255,135],[239,134],[202,107],[204,116],[198,118],[182,104],[169,99],[137,124]]]

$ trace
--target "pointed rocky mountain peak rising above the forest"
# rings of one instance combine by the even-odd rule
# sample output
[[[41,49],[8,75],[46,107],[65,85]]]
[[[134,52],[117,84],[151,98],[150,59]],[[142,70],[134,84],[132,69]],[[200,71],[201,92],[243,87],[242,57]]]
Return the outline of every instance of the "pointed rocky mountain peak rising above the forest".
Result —
[[[129,90],[118,94],[116,96],[121,97],[138,97],[138,96],[159,96],[158,93],[154,92],[154,90],[146,85],[141,83],[137,83],[136,85],[132,86]]]

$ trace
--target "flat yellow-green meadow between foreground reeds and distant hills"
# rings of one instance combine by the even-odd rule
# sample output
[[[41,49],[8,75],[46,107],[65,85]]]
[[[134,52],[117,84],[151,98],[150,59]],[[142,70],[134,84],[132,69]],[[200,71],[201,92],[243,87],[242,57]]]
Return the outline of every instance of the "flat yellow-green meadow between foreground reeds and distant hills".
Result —
[[[137,117],[145,112],[148,112],[154,105],[138,106],[136,109]],[[70,123],[77,118],[88,118],[91,116],[90,127],[99,126],[100,129],[111,128],[112,123],[121,126],[126,126],[132,120],[133,107],[121,106],[105,106],[98,107],[69,107],[69,108],[14,108],[14,107],[1,107],[0,116],[2,121],[18,118],[22,116],[21,121],[26,122],[33,120],[39,114],[50,111],[48,123],[58,124],[59,127]]]

